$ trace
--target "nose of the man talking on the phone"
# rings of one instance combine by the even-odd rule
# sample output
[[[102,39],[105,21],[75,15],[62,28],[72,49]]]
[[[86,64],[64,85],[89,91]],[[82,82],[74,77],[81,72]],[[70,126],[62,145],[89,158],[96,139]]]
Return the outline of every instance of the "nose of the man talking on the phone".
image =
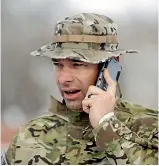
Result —
[[[62,70],[59,74],[58,74],[58,82],[61,85],[67,84],[69,82],[72,82],[74,79],[73,77],[73,73],[71,71],[69,71],[68,69],[66,70]]]

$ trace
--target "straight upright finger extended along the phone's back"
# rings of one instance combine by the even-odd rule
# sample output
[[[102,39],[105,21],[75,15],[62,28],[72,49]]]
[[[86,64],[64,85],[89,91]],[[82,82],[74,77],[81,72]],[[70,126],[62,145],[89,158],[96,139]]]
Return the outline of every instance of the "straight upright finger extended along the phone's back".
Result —
[[[104,70],[104,78],[106,82],[108,83],[107,92],[110,92],[113,95],[115,95],[117,83],[114,80],[112,80],[107,69]]]

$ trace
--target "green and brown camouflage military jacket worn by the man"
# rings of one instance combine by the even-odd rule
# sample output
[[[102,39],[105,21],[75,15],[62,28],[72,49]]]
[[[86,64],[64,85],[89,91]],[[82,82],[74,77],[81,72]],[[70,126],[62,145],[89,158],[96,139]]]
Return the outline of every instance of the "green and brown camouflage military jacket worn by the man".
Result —
[[[96,129],[88,115],[52,97],[50,112],[21,127],[8,164],[157,164],[158,111],[119,100],[115,115]]]

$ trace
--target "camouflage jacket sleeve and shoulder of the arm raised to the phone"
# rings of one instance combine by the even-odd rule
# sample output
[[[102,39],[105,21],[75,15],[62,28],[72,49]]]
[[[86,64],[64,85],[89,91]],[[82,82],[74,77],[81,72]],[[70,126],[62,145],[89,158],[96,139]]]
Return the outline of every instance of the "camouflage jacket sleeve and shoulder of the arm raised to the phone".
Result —
[[[158,164],[158,111],[120,99],[115,116],[93,130],[111,164]],[[109,133],[109,134],[108,134]]]

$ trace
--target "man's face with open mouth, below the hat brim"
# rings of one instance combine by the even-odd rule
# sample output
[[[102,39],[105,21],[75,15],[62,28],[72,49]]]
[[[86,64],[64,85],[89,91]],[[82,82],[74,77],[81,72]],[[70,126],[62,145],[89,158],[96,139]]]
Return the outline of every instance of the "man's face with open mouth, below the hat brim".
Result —
[[[96,82],[98,64],[69,59],[53,60],[53,63],[56,68],[56,82],[66,106],[81,111],[88,87]]]

